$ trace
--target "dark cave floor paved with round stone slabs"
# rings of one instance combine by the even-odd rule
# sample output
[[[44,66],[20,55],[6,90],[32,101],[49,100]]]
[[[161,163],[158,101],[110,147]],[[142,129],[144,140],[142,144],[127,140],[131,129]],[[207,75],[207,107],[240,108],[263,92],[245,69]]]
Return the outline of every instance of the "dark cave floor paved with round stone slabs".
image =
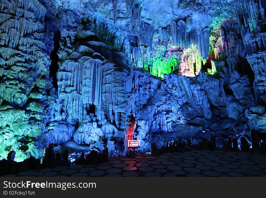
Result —
[[[249,152],[190,150],[114,158],[98,165],[29,170],[11,177],[256,177],[266,176],[266,155]],[[4,177],[6,177],[4,176]]]

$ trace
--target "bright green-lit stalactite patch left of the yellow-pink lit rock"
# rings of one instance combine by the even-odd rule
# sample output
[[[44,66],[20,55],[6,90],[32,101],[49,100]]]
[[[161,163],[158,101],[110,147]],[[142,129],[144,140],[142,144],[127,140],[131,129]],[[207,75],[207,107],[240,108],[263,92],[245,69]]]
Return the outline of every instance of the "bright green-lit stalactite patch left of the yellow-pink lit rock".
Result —
[[[178,67],[179,62],[177,55],[172,55],[168,59],[161,55],[157,55],[154,58],[148,58],[144,63],[144,69],[148,71],[148,68],[150,68],[150,73],[152,75],[164,78],[164,74],[170,74],[174,71]]]

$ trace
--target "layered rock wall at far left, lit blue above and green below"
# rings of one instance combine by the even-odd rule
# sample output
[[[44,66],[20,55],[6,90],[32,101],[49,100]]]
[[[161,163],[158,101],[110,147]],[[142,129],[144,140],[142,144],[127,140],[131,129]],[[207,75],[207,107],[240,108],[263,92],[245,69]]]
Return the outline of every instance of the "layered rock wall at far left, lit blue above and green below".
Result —
[[[54,100],[49,81],[53,34],[45,30],[46,8],[37,0],[0,3],[0,157],[16,151],[18,161],[39,158],[36,138]]]

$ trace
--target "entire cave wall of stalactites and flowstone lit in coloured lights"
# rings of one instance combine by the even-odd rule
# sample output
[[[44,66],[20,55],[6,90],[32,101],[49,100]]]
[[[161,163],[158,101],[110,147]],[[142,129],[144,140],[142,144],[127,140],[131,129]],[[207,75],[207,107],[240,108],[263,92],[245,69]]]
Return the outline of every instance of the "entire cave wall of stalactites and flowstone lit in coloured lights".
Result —
[[[266,130],[265,7],[2,1],[1,157],[68,141],[125,155],[129,128],[142,152],[175,141],[251,146],[251,132]]]

